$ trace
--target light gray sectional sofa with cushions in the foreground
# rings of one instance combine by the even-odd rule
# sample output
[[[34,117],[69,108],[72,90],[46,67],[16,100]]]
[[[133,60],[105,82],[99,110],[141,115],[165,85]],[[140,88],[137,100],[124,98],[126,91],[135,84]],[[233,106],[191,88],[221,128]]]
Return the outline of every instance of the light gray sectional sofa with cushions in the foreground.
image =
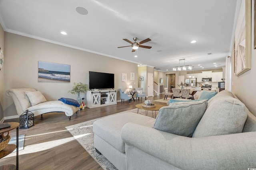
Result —
[[[256,117],[227,90],[162,107],[156,119],[105,117],[93,131],[95,148],[119,170],[256,168]]]

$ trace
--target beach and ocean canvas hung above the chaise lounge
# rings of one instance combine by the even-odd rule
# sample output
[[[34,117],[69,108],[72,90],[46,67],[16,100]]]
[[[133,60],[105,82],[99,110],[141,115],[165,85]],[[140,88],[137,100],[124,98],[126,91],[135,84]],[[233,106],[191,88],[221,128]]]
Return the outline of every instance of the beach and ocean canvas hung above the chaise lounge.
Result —
[[[38,82],[70,82],[70,65],[38,61]]]

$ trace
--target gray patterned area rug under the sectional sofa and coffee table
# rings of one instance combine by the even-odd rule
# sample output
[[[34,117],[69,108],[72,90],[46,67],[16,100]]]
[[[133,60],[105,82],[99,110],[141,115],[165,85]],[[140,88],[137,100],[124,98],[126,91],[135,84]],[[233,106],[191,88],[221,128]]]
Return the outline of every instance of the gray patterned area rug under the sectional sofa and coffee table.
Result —
[[[138,109],[132,109],[128,111],[123,111],[121,113],[125,112],[134,112],[137,113]],[[120,114],[120,113],[116,113]],[[146,111],[139,110],[139,114],[146,115]],[[158,111],[156,111],[156,114],[158,114]],[[112,116],[112,115],[109,115]],[[148,113],[148,116],[152,117],[152,114]],[[98,118],[98,119],[102,119]],[[84,149],[100,164],[100,166],[104,170],[117,170],[116,167],[108,161],[102,154],[98,154],[94,148],[94,133],[92,131],[92,124],[94,121],[98,119],[93,119],[90,121],[85,121],[82,123],[78,123],[75,125],[67,126],[66,129],[73,135],[73,137],[84,147]]]

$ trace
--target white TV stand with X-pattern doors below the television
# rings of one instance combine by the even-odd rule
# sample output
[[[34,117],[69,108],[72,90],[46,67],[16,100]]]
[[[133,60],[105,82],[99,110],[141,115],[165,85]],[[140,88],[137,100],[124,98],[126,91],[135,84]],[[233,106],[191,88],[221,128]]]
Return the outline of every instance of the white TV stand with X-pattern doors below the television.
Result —
[[[87,90],[86,107],[102,107],[116,104],[116,90]]]

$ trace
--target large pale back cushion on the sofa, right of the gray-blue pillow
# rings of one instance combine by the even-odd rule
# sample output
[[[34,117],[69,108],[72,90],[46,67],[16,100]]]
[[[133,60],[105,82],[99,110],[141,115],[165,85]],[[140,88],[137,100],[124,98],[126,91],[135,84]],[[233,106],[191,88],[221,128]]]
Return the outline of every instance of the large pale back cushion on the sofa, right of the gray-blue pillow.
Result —
[[[216,97],[208,105],[192,137],[241,133],[247,113],[244,104],[231,96]]]

